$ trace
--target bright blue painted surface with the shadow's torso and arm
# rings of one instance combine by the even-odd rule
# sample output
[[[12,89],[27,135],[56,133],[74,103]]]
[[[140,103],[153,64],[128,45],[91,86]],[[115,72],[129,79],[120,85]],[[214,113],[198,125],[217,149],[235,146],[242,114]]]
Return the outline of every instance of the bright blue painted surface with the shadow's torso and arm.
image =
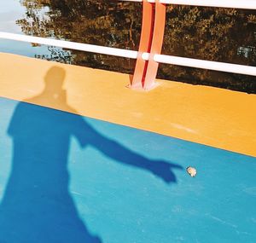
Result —
[[[0,242],[256,241],[256,158],[5,98],[0,118]]]

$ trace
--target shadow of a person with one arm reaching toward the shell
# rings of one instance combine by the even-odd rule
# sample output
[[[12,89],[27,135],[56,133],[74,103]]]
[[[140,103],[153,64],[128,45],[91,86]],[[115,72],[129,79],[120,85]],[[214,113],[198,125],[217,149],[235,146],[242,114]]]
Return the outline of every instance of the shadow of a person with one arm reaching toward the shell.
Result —
[[[132,152],[73,114],[62,88],[64,79],[61,67],[50,68],[44,91],[20,102],[9,124],[13,161],[0,205],[1,243],[102,242],[86,229],[68,192],[67,158],[72,136],[82,148],[93,146],[118,163],[146,170],[166,183],[176,182],[172,168],[182,169]],[[29,103],[50,103],[56,109]]]

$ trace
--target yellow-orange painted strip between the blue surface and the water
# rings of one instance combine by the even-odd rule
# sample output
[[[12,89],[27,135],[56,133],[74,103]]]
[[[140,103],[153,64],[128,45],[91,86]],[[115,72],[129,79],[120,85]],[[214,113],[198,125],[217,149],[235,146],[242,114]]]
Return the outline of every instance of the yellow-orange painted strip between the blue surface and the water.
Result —
[[[165,80],[141,92],[129,82],[126,74],[0,54],[2,97],[256,156],[256,95]]]

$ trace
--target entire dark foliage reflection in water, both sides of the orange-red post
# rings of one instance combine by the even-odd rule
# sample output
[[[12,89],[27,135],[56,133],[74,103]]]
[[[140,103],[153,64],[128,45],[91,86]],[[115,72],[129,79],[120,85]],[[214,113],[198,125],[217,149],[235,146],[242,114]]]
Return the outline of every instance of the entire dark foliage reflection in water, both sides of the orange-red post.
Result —
[[[141,3],[108,0],[20,0],[26,34],[137,49]],[[42,14],[44,13],[44,14]],[[242,33],[241,33],[242,30]],[[256,65],[256,14],[252,10],[168,6],[163,53]],[[132,72],[134,61],[72,51],[75,64]],[[55,60],[55,58],[53,58]],[[253,77],[160,65],[160,78],[256,92]]]

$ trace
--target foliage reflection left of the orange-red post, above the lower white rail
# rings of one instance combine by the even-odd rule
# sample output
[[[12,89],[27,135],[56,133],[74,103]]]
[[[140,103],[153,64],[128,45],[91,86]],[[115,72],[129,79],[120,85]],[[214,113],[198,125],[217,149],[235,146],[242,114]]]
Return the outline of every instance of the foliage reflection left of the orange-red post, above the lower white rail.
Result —
[[[18,20],[18,24],[27,34],[132,48],[139,38],[139,32],[133,30],[140,28],[140,11],[135,11],[140,4],[108,2],[111,1],[22,0],[26,19]],[[42,6],[49,8],[44,17],[38,13]]]

